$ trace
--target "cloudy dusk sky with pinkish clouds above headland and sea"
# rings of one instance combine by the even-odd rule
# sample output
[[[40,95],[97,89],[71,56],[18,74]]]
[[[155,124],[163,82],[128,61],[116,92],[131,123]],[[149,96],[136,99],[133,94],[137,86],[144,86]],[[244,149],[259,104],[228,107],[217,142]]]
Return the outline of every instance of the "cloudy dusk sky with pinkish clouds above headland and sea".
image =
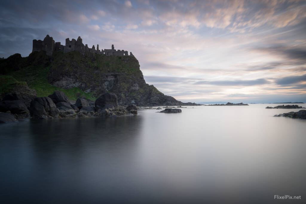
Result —
[[[0,57],[81,36],[183,102],[306,103],[306,1],[0,1]]]

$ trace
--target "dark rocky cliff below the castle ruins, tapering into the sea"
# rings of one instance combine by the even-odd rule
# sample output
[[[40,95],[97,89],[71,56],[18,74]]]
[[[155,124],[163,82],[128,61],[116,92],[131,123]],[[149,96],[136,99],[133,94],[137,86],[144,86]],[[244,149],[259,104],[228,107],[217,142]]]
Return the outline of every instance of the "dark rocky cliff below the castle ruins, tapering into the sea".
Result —
[[[0,64],[3,64],[1,61]],[[91,100],[110,92],[117,95],[120,105],[131,103],[138,106],[186,105],[159,92],[153,85],[146,84],[139,62],[134,56],[94,54],[84,56],[77,51],[65,54],[54,52],[52,56],[47,56],[45,51],[39,51],[31,53],[29,57],[21,61],[22,65],[17,71],[6,70],[2,73],[12,75],[18,81],[28,82],[30,88],[43,91],[50,89],[52,93],[56,87],[64,92],[80,90],[76,94],[90,96]],[[8,63],[7,60],[3,62]],[[25,74],[28,75],[27,78],[24,78]],[[36,83],[32,75],[39,76],[42,81]],[[46,83],[43,80],[46,80]],[[53,88],[51,90],[51,88],[40,87],[40,84],[42,86],[48,84],[47,86],[50,87],[53,85]],[[40,91],[37,92],[39,96]],[[71,91],[72,95],[73,93],[75,91]],[[78,96],[72,98],[75,97]]]

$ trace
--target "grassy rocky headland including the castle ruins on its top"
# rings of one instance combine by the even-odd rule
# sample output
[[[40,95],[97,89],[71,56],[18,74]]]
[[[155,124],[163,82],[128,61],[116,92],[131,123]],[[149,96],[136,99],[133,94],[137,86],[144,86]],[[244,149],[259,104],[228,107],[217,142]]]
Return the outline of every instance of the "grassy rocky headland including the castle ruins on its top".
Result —
[[[95,101],[104,93],[114,93],[121,106],[198,105],[183,103],[148,85],[132,53],[115,50],[114,46],[88,48],[80,37],[67,38],[65,46],[48,35],[44,40],[33,40],[28,57],[14,54],[0,60],[0,74],[0,100],[15,93],[28,99],[27,106],[35,97],[55,90],[65,93],[69,100]]]

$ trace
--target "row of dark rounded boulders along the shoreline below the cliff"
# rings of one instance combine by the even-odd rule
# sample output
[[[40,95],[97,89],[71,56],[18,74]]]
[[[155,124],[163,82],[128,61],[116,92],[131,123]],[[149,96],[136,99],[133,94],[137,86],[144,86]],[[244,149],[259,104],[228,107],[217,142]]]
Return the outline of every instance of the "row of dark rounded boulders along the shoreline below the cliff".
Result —
[[[36,97],[27,107],[17,95],[5,96],[0,102],[0,123],[17,121],[17,119],[48,119],[67,117],[114,117],[120,115],[137,115],[137,107],[132,104],[119,106],[117,96],[104,93],[93,103],[84,98],[78,98],[71,104],[62,91],[55,91],[45,97]]]

